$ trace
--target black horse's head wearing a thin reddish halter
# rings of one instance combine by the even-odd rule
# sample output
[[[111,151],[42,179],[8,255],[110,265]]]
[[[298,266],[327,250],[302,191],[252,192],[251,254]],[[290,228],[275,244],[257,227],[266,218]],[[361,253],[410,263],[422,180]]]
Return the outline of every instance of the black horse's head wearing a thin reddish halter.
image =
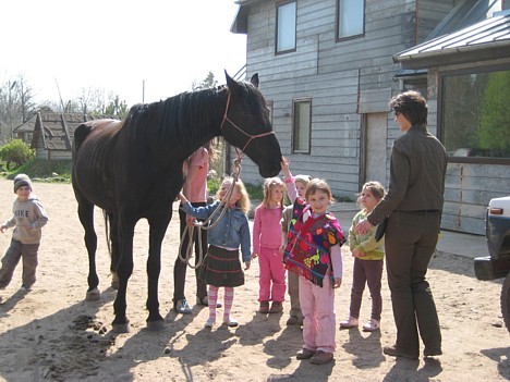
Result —
[[[227,141],[246,153],[258,165],[264,177],[276,176],[280,172],[280,145],[272,132],[269,109],[258,90],[258,75],[251,83],[238,83],[227,72],[229,98],[222,134]]]

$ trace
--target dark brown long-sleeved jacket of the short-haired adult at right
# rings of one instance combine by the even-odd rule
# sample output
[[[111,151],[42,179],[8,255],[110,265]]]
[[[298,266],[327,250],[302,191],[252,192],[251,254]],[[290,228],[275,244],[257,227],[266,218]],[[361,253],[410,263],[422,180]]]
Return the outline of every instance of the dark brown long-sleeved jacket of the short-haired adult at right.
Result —
[[[412,126],[391,149],[387,195],[367,215],[377,225],[396,210],[442,211],[448,155],[426,126]]]

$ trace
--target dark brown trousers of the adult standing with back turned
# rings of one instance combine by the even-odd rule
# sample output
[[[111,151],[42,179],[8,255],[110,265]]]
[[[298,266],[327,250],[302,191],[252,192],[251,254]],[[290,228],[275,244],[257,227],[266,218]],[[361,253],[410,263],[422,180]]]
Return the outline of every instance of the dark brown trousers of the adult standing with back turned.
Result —
[[[425,348],[441,349],[436,304],[425,280],[440,221],[439,211],[394,211],[386,230],[386,268],[397,325],[396,345],[413,356],[420,354],[418,329]]]

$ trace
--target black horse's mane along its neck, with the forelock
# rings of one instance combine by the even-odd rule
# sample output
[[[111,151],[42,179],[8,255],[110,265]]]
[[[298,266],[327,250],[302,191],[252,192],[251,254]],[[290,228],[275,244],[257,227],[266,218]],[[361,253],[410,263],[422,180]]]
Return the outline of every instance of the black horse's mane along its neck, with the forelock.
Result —
[[[266,100],[256,87],[248,83],[238,83],[241,91],[240,101],[250,113],[267,122]],[[196,91],[185,91],[153,103],[135,104],[124,121],[132,134],[143,130],[154,138],[163,139],[171,136],[185,139],[190,133],[210,134],[210,128],[220,128],[223,118],[228,87]]]

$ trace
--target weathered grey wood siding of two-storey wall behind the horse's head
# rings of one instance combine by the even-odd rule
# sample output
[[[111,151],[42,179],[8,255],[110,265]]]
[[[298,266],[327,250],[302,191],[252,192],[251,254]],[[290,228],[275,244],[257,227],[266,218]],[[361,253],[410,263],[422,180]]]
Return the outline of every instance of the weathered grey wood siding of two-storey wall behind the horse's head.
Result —
[[[342,41],[336,40],[336,0],[299,1],[296,51],[278,56],[275,3],[252,7],[247,67],[250,73],[259,73],[262,91],[272,101],[274,128],[294,172],[324,177],[335,195],[355,199],[360,113],[388,111],[389,98],[399,91],[392,54],[415,44],[414,26],[412,35],[402,33],[402,25],[408,28],[406,21],[415,14],[414,2],[367,0],[365,36]],[[292,100],[298,98],[312,99],[309,155],[291,153]],[[394,123],[389,126],[399,132]],[[250,161],[243,164],[242,177],[262,183]]]

